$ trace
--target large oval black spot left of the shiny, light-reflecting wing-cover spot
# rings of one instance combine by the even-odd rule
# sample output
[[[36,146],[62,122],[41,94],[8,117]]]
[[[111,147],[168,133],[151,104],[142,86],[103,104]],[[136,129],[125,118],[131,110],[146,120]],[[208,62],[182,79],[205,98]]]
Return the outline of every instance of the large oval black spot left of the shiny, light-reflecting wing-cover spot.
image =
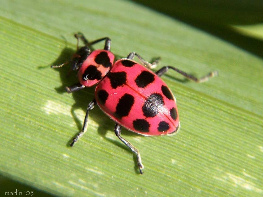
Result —
[[[131,94],[124,94],[120,99],[119,103],[116,106],[115,114],[122,118],[123,116],[129,115],[131,107],[134,104],[134,97]]]

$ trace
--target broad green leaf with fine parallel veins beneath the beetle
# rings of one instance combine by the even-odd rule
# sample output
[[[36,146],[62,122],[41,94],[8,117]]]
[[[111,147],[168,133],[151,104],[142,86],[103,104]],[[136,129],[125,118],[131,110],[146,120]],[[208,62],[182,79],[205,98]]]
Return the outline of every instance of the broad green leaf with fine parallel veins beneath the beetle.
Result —
[[[38,196],[263,195],[259,53],[129,1],[1,0],[1,5],[0,173],[19,191],[29,186],[41,190]],[[87,133],[74,148],[68,146],[94,88],[65,93],[65,86],[77,82],[75,74],[67,76],[69,66],[50,65],[70,59],[77,31],[88,40],[109,36],[120,57],[131,51],[146,60],[162,57],[157,69],[173,65],[197,77],[219,72],[201,84],[173,71],[162,77],[177,99],[179,133],[122,133],[140,150],[143,175],[114,135],[114,122],[98,107],[90,112]],[[262,35],[262,28],[258,31]],[[1,195],[15,191],[9,184],[1,181]]]

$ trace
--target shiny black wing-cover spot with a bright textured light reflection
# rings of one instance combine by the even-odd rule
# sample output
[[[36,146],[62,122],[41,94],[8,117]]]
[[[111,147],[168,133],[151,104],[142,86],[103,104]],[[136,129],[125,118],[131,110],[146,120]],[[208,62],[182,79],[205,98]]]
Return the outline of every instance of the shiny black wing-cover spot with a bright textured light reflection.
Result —
[[[158,114],[159,109],[164,105],[161,94],[153,93],[145,101],[142,106],[143,115],[146,117],[154,117]]]

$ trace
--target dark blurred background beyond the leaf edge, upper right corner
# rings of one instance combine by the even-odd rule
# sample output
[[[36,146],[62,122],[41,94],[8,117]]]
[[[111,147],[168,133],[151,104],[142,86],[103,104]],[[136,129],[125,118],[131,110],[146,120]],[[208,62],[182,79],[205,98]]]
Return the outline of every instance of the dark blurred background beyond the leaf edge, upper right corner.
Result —
[[[262,1],[136,0],[262,57]]]

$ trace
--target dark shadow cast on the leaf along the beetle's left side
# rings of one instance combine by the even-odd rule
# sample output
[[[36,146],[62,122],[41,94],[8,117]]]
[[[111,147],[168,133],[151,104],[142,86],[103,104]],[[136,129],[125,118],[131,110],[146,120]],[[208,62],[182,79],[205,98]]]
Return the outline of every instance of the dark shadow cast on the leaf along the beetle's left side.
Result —
[[[50,65],[60,65],[64,62],[68,61],[74,53],[75,53],[75,50],[73,50],[72,48],[65,47],[61,51],[61,54],[59,55],[59,57],[55,61],[53,61]],[[122,57],[122,56],[118,55],[118,57]],[[61,81],[61,86],[55,87],[55,90],[59,94],[67,94],[65,87],[71,86],[72,84],[75,84],[78,82],[78,78],[76,77],[77,72],[72,71],[70,68],[70,65],[64,65],[61,68],[54,68],[54,70],[59,72],[60,81]],[[95,86],[90,87],[90,88],[85,88],[83,90],[71,93],[71,95],[75,101],[75,103],[71,107],[71,115],[72,115],[79,131],[81,131],[81,129],[82,129],[84,117],[83,117],[83,120],[80,120],[78,118],[78,116],[75,114],[75,110],[81,109],[81,110],[86,112],[87,107],[88,107],[88,103],[94,99],[94,91],[95,91]],[[95,106],[94,109],[90,111],[89,116],[90,115],[92,115],[93,118],[96,120],[96,122],[99,124],[98,133],[102,137],[104,137],[105,139],[113,142],[116,145],[119,145],[118,140],[114,141],[114,140],[106,137],[107,130],[109,130],[109,125],[112,128],[111,130],[114,132],[114,125],[115,125],[114,121],[112,121],[110,118],[108,118],[99,109],[98,106]],[[77,134],[77,133],[78,132],[76,132],[75,134]],[[126,129],[123,129],[122,134],[124,134],[125,136],[136,136],[135,133],[128,132]],[[118,139],[118,138],[116,137],[116,139]],[[70,143],[71,143],[71,140],[67,143],[67,145],[69,145]]]

